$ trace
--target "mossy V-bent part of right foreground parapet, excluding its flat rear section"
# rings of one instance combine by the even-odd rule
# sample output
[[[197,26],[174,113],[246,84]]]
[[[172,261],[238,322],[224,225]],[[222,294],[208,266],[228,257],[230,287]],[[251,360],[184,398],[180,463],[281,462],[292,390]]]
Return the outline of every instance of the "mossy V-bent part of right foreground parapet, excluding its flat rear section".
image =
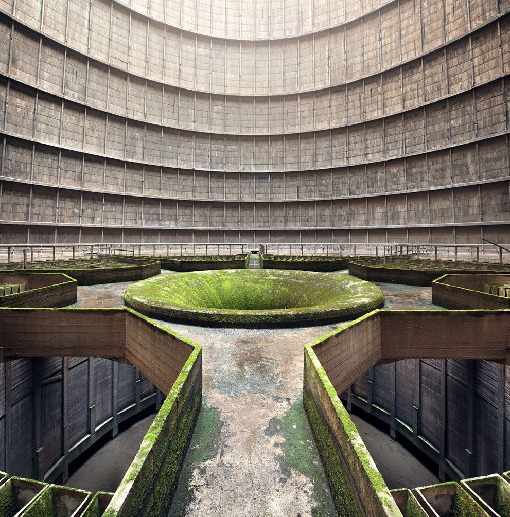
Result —
[[[342,327],[341,350],[332,346],[338,332],[305,347],[303,403],[321,455],[338,515],[380,517],[400,515],[384,480],[335,391],[381,357],[380,318],[376,313]],[[363,338],[365,334],[366,338]],[[358,347],[359,345],[359,347]],[[321,352],[319,352],[319,349]],[[352,353],[352,355],[351,355]],[[342,366],[342,358],[352,362]],[[320,359],[322,357],[322,359]],[[326,371],[323,363],[329,364]],[[329,373],[327,373],[329,372]],[[340,391],[341,392],[341,391]]]

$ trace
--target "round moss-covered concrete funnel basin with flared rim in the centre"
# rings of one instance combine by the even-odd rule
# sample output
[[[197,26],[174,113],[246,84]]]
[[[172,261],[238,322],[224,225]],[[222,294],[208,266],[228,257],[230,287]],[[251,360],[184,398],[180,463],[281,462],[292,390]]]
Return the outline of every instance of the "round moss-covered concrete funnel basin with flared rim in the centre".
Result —
[[[162,320],[218,327],[315,325],[383,307],[379,287],[346,275],[273,269],[194,271],[128,288],[128,307]]]

